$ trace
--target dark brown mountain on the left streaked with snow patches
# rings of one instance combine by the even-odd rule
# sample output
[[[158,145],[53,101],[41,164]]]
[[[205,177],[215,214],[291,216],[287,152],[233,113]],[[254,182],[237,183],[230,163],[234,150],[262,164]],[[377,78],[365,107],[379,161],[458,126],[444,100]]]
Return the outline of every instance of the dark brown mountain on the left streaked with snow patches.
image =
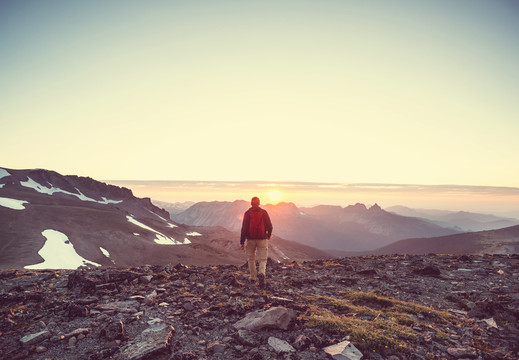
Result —
[[[131,190],[48,170],[0,168],[0,268],[238,264],[239,237],[175,224]],[[326,254],[273,239],[276,261]]]

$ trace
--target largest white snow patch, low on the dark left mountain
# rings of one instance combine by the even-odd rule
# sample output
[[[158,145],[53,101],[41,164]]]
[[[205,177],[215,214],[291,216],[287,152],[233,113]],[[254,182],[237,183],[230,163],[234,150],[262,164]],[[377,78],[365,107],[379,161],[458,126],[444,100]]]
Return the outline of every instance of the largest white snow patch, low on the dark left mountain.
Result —
[[[101,266],[78,255],[74,245],[62,232],[49,229],[44,230],[42,235],[47,238],[47,241],[38,251],[38,255],[44,261],[39,264],[27,265],[26,269],[77,269],[86,264]]]

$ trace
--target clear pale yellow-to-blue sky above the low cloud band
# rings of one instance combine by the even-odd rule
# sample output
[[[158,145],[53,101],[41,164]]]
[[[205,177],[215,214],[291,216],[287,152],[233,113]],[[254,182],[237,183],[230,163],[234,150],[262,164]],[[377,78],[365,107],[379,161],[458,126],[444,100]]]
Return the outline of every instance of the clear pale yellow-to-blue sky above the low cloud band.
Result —
[[[0,166],[519,187],[516,1],[0,2]]]

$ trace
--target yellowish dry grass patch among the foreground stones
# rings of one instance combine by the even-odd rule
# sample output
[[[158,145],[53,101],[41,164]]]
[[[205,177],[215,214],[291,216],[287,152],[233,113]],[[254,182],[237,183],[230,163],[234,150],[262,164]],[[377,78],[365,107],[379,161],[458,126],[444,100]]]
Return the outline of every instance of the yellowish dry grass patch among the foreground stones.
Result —
[[[420,326],[437,341],[456,317],[427,306],[389,298],[377,292],[347,291],[341,298],[307,296],[312,306],[301,317],[310,326],[349,336],[359,350],[381,354],[411,353]]]

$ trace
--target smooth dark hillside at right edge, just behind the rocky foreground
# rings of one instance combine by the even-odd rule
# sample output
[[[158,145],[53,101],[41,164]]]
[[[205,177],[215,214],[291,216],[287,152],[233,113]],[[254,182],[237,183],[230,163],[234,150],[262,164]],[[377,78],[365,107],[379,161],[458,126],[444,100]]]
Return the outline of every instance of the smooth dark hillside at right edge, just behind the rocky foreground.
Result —
[[[426,239],[405,239],[370,254],[519,254],[519,225]]]

